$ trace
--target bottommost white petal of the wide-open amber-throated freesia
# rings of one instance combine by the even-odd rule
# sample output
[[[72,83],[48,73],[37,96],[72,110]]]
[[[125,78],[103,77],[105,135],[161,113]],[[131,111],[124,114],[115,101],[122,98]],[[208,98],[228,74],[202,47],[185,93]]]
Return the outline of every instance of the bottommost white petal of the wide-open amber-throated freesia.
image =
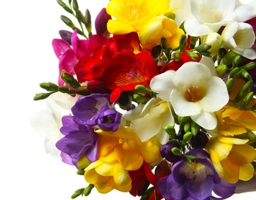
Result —
[[[214,112],[200,112],[198,115],[190,116],[190,118],[201,127],[212,130],[217,126],[217,118]]]

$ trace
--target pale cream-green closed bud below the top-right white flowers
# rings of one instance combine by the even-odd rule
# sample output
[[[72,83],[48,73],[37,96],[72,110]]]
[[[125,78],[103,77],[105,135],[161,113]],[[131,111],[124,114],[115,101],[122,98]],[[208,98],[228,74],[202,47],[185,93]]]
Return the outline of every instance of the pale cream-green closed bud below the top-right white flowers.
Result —
[[[211,45],[211,48],[208,49],[208,52],[211,52],[211,55],[217,55],[217,52],[221,48],[222,38],[217,32],[213,32],[205,36],[202,42],[203,44]]]

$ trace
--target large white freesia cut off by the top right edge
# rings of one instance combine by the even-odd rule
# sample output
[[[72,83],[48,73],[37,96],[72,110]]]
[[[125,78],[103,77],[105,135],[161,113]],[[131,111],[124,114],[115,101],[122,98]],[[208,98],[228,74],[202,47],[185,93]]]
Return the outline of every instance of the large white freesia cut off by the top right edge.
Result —
[[[191,36],[217,32],[229,22],[245,22],[256,15],[254,4],[241,4],[237,0],[190,0],[194,18],[184,23],[185,31]]]

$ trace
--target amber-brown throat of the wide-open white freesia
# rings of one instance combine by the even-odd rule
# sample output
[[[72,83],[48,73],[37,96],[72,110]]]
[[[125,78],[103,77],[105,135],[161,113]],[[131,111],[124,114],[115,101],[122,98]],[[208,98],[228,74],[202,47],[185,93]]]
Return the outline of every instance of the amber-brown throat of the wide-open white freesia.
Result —
[[[207,89],[204,85],[192,85],[185,91],[184,97],[187,102],[198,102],[206,95]]]

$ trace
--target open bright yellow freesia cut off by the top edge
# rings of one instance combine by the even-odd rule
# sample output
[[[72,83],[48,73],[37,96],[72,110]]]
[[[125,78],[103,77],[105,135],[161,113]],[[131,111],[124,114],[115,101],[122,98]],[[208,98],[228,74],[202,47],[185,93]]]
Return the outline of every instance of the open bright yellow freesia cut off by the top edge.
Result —
[[[106,12],[116,19],[108,21],[107,29],[116,35],[140,32],[151,18],[170,12],[169,5],[169,0],[111,0]]]

